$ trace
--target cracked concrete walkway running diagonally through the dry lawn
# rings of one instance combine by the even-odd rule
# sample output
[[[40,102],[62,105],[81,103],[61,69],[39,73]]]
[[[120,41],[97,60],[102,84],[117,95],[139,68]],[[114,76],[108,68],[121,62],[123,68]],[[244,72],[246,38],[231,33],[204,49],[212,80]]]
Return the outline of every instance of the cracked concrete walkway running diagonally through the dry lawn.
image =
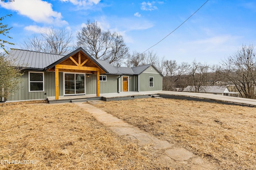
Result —
[[[160,140],[149,133],[134,127],[105,111],[92,106],[86,102],[74,103],[85,111],[92,113],[94,118],[110,128],[114,133],[128,139],[143,147],[151,146],[151,150],[159,162],[166,164],[174,169],[192,169],[192,170],[213,170],[214,165],[202,160],[192,152],[184,148],[176,148],[167,141]]]

